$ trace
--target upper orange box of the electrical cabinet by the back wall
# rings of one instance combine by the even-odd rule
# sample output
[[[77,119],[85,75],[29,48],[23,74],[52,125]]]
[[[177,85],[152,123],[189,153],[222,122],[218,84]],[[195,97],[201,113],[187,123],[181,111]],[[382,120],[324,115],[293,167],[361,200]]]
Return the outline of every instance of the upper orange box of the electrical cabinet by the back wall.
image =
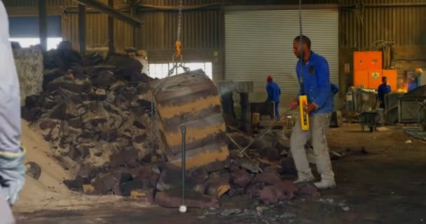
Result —
[[[355,51],[354,71],[382,69],[381,51]]]

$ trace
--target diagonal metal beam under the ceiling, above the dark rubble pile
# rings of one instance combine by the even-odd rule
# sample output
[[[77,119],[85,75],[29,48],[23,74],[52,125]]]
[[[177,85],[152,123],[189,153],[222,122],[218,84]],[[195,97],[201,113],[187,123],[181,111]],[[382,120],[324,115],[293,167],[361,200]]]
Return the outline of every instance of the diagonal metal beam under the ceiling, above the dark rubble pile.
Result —
[[[98,10],[101,13],[105,13],[117,20],[128,22],[130,25],[133,25],[135,27],[140,27],[140,25],[142,24],[142,22],[140,22],[136,18],[133,18],[130,15],[125,15],[124,13],[121,13],[119,10],[116,10],[115,8],[108,6],[100,1],[95,1],[95,0],[74,0],[74,1],[82,5],[88,6],[90,8],[93,8],[95,10]]]

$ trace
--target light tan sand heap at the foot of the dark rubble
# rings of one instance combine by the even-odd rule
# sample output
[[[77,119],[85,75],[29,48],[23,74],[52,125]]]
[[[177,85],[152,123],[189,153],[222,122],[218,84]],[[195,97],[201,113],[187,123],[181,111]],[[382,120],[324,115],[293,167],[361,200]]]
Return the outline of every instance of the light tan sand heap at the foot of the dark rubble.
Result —
[[[30,129],[25,120],[22,120],[22,144],[27,148],[25,163],[36,162],[41,167],[41,175],[38,180],[26,175],[27,183],[20,194],[20,200],[13,207],[14,211],[77,209],[89,204],[121,200],[114,196],[90,197],[68,190],[62,181],[71,178],[71,172],[57,162],[48,142],[41,134]]]

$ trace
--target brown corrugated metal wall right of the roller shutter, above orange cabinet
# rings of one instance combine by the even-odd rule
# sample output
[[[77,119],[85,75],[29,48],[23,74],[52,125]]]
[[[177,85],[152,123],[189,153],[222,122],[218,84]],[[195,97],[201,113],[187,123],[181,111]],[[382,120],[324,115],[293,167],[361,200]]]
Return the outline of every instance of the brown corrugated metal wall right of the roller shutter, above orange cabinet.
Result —
[[[425,0],[364,0],[357,7],[353,2],[341,2],[341,46],[368,49],[378,40],[426,45]]]

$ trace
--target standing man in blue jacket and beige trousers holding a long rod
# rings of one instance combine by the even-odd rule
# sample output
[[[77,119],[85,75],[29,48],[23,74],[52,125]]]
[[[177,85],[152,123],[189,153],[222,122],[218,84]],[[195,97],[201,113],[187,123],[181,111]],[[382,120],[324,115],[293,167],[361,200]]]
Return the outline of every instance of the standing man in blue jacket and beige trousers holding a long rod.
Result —
[[[302,38],[302,48],[301,48]],[[315,153],[315,164],[321,174],[321,181],[315,182],[315,186],[320,189],[336,187],[334,172],[331,169],[329,147],[327,145],[327,130],[330,125],[331,113],[334,111],[333,94],[336,89],[331,90],[330,71],[327,59],[310,50],[310,39],[307,36],[297,36],[294,38],[293,49],[299,61],[296,65],[296,73],[299,80],[303,80],[303,88],[308,97],[309,126],[307,131],[302,130],[301,122],[298,119],[291,133],[290,147],[291,155],[298,172],[298,179],[294,183],[314,181],[309,167],[308,158],[305,151],[305,144],[312,140]],[[303,54],[301,54],[303,52]],[[303,55],[303,58],[301,58]],[[303,70],[301,77],[301,60]],[[302,79],[303,78],[303,79]],[[290,104],[290,109],[298,107],[298,97]]]

